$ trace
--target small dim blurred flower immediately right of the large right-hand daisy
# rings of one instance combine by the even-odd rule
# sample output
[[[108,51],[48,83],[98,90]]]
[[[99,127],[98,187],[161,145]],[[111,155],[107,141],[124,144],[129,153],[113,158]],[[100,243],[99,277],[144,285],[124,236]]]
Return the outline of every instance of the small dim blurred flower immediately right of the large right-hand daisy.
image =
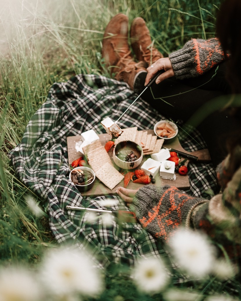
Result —
[[[237,268],[225,259],[217,259],[213,264],[213,274],[219,279],[230,279],[236,274]]]

